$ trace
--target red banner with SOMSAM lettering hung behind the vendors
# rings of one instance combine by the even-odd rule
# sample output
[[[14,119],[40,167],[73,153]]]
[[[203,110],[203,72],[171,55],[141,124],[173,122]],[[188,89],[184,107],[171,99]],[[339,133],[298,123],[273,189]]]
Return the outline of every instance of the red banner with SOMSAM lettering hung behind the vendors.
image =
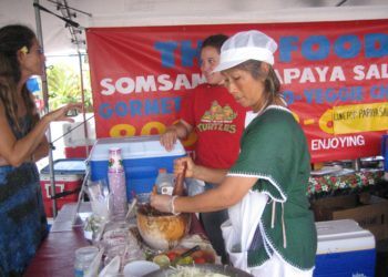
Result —
[[[380,154],[388,130],[388,20],[91,28],[98,137],[163,133],[181,98],[205,82],[202,40],[251,29],[278,43],[275,69],[314,162]]]

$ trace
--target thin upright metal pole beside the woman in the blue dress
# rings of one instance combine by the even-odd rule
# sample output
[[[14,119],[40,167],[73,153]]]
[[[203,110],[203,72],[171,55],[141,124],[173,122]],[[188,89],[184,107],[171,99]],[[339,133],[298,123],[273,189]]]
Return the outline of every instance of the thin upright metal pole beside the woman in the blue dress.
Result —
[[[34,3],[39,4],[39,0],[33,0]],[[35,10],[35,21],[37,21],[37,37],[38,41],[42,49],[43,47],[43,34],[42,34],[42,23],[40,18],[40,10],[38,7],[34,7]],[[45,64],[44,70],[41,75],[42,79],[42,90],[43,90],[43,102],[44,102],[44,114],[49,113],[49,90],[48,90],[48,79],[45,74]],[[50,147],[49,147],[49,170],[50,170],[50,194],[52,197],[52,215],[55,218],[57,216],[57,199],[55,199],[55,176],[54,176],[54,163],[52,157],[52,144],[51,144],[51,127],[49,125],[48,132],[47,132],[47,138],[49,141]]]

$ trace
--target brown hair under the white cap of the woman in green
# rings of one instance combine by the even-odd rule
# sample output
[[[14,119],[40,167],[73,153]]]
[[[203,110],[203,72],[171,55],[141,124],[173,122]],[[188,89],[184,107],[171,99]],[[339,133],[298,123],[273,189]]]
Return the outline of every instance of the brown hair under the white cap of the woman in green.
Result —
[[[276,99],[282,98],[280,81],[277,78],[275,70],[270,64],[268,65],[268,71],[264,71],[262,69],[261,61],[248,60],[234,66],[234,69],[239,69],[249,72],[253,79],[255,80],[265,80],[264,103],[266,103],[266,106],[274,104]]]

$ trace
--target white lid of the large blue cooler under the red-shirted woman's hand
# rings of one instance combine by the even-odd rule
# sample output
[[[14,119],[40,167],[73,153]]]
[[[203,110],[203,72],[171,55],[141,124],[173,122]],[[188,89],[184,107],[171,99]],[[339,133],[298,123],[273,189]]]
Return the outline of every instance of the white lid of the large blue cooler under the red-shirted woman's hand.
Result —
[[[160,135],[105,137],[99,138],[90,153],[90,161],[106,161],[109,150],[120,147],[123,160],[141,157],[184,156],[186,151],[177,141],[172,151],[166,151],[160,143]]]

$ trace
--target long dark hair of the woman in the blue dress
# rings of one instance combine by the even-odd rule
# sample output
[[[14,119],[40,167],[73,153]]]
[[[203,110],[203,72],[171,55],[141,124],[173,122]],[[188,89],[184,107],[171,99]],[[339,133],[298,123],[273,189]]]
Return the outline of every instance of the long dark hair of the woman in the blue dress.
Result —
[[[25,25],[6,25],[0,29],[0,101],[4,106],[8,120],[12,123],[11,126],[19,131],[17,88],[21,79],[21,70],[18,51],[25,47],[29,52],[35,38],[34,32]],[[33,119],[32,122],[35,124],[38,121],[38,115],[34,114],[35,104],[25,83],[21,93],[27,114]]]

